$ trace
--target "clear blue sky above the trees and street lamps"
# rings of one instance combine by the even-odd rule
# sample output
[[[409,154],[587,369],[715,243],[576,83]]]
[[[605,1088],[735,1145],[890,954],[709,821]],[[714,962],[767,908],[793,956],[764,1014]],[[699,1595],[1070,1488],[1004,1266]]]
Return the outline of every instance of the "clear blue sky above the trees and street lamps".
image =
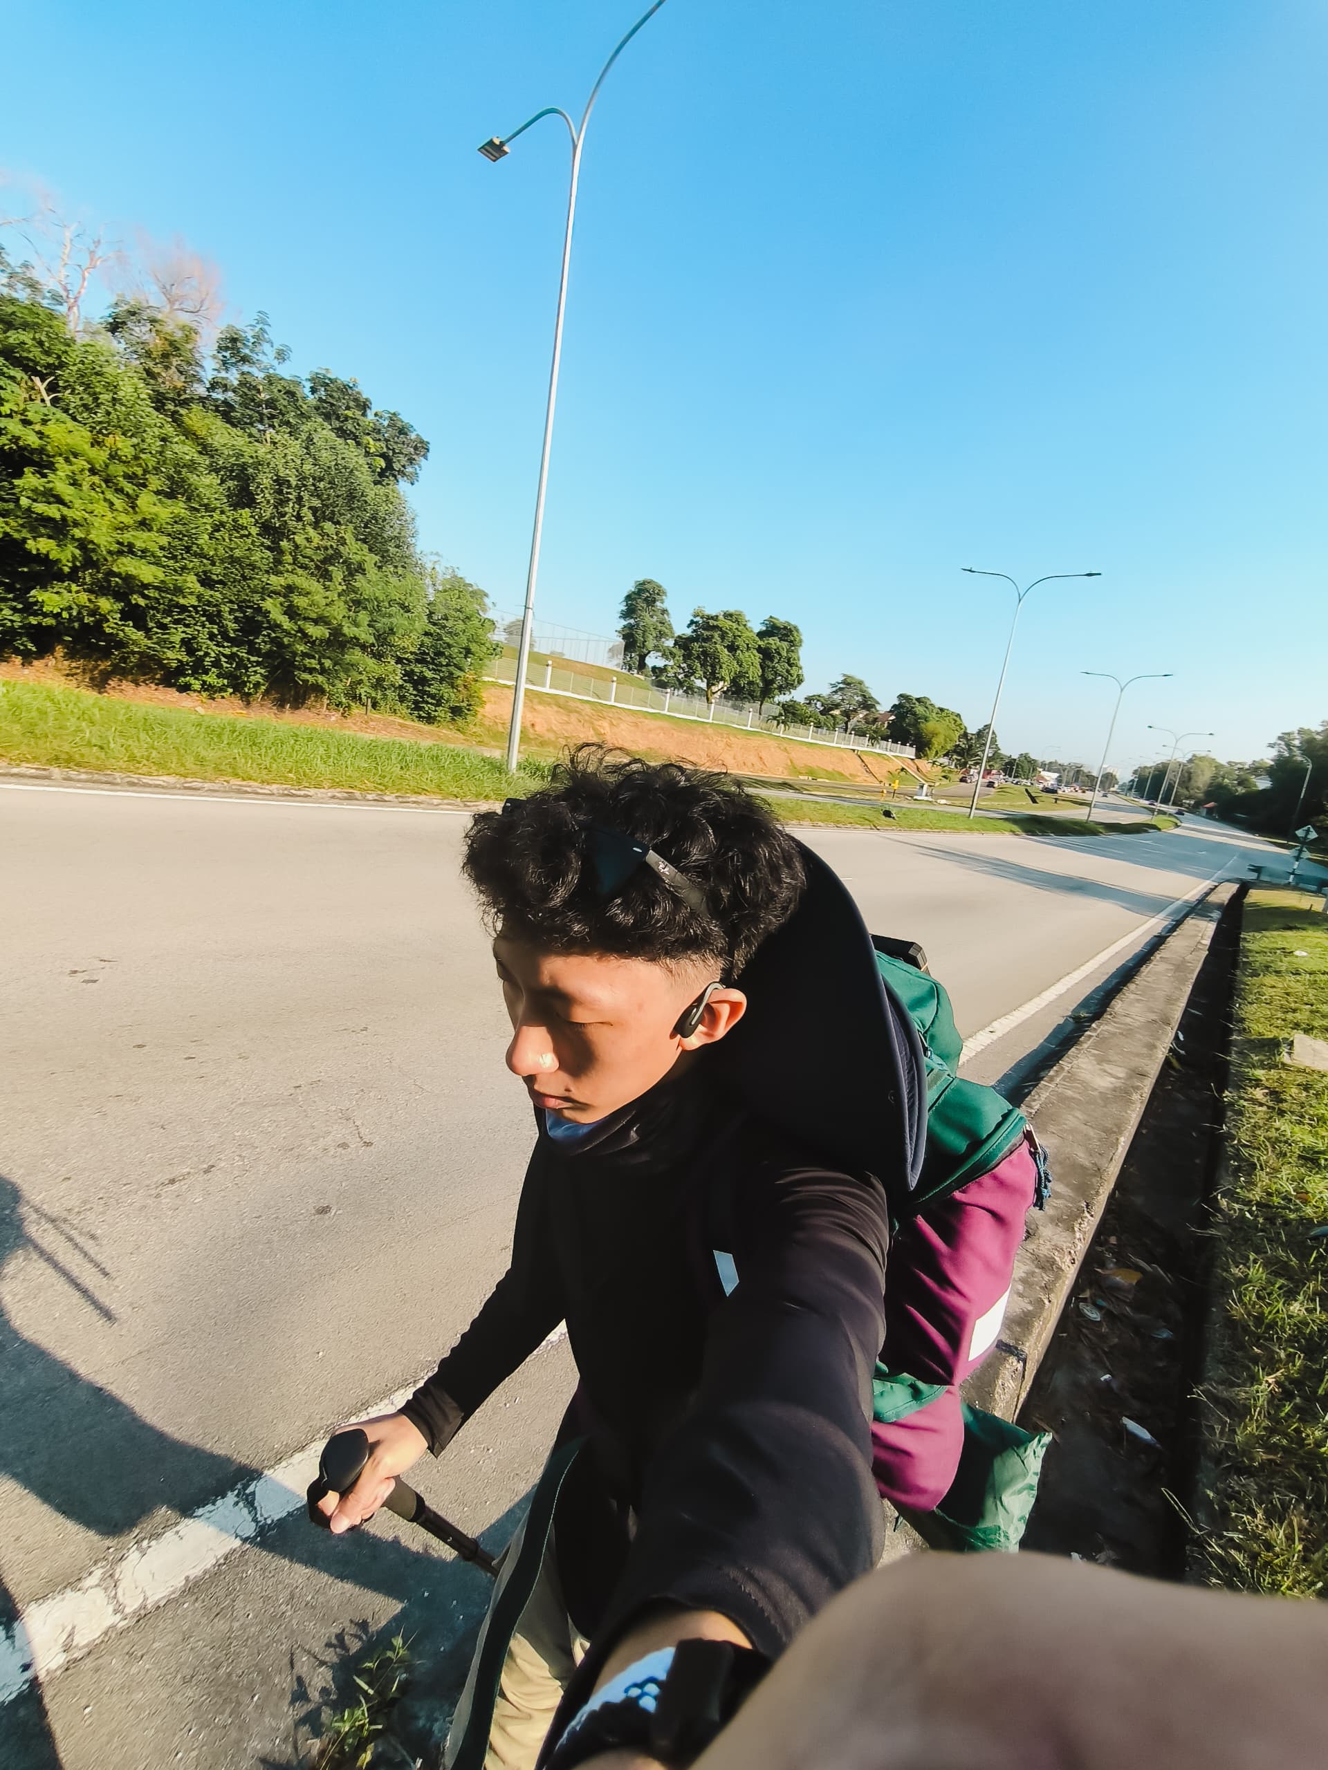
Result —
[[[0,165],[182,234],[232,313],[430,439],[427,547],[519,604],[567,179],[620,0],[46,0]],[[1328,717],[1321,0],[669,0],[588,136],[540,609],[652,575],[809,687],[1096,756],[1114,690],[1255,758]]]

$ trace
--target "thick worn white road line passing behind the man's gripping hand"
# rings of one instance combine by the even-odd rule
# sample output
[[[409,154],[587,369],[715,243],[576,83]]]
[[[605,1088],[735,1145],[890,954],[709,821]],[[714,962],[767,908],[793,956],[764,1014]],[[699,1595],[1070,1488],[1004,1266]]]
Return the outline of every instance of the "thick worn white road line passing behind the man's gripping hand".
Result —
[[[563,1324],[542,1342],[540,1351],[565,1338]],[[397,1389],[365,1407],[359,1418],[397,1412],[416,1388],[418,1382],[411,1382]],[[172,1529],[97,1563],[76,1586],[21,1609],[18,1620],[0,1630],[0,1705],[81,1658],[103,1635],[166,1604],[235,1549],[299,1512],[326,1443],[328,1434],[322,1432],[292,1457],[211,1499]]]

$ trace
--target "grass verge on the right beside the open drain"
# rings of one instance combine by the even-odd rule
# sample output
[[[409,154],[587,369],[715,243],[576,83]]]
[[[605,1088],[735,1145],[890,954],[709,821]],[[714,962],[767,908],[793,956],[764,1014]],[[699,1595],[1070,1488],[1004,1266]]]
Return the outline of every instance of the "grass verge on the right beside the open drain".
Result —
[[[1245,904],[1236,1034],[1328,1037],[1328,924],[1312,897]],[[1239,1051],[1239,1046],[1238,1046]],[[1204,1384],[1213,1584],[1328,1595],[1328,1074],[1236,1058],[1216,1198]]]

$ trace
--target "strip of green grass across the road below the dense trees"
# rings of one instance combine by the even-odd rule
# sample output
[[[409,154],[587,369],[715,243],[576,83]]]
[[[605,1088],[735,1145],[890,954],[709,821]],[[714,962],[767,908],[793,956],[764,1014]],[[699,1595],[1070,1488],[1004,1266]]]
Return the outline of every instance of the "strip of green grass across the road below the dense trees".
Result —
[[[453,743],[228,719],[23,681],[0,685],[0,758],[44,768],[489,800],[547,773],[542,763],[522,763],[524,781],[513,784],[498,758]]]

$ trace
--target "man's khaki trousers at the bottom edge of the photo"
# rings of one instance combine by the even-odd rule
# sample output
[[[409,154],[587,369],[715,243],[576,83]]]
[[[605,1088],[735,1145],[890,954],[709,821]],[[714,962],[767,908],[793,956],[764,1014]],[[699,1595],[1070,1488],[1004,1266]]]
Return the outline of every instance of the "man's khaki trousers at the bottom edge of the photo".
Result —
[[[521,1549],[519,1536],[508,1543],[501,1563],[506,1565]],[[494,1586],[489,1614],[503,1589],[501,1574]],[[489,1618],[485,1618],[485,1628]],[[483,1628],[480,1630],[483,1644]],[[480,1657],[480,1644],[471,1660],[471,1674],[466,1680],[457,1713],[452,1720],[448,1749],[443,1763],[452,1766],[460,1751],[460,1738],[469,1720],[475,1701],[475,1671]],[[586,1651],[586,1639],[572,1627],[563,1602],[563,1588],[558,1581],[558,1563],[554,1559],[552,1536],[540,1565],[540,1577],[529,1604],[521,1612],[512,1644],[503,1660],[503,1676],[494,1703],[494,1720],[489,1729],[489,1751],[485,1770],[535,1770],[544,1736],[552,1724],[563,1690]]]

